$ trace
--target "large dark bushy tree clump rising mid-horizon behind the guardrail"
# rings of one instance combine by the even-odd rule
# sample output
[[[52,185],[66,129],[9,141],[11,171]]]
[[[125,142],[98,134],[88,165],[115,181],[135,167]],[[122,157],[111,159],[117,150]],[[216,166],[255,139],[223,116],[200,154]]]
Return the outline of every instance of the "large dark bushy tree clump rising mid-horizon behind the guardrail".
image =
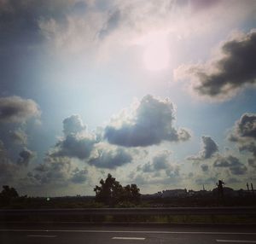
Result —
[[[102,202],[108,206],[114,206],[124,201],[130,201],[132,203],[138,203],[140,200],[140,189],[136,184],[122,185],[108,174],[108,177],[104,181],[101,179],[101,186],[95,187],[96,201]]]

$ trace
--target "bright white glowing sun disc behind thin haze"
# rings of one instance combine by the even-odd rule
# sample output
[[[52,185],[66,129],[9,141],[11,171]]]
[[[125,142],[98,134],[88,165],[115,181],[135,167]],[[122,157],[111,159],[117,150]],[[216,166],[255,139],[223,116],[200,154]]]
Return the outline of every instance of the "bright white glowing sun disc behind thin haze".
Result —
[[[154,33],[144,40],[143,65],[149,71],[160,71],[170,65],[170,48],[166,35]]]

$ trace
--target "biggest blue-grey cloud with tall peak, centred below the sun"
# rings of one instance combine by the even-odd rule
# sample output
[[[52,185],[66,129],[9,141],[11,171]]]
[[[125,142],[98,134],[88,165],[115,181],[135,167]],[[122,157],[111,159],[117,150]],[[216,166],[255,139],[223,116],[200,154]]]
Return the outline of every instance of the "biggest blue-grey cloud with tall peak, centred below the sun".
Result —
[[[169,100],[144,96],[130,121],[120,119],[121,126],[108,125],[104,137],[109,143],[124,147],[147,147],[163,141],[178,142],[189,139],[189,132],[172,126],[174,107]]]

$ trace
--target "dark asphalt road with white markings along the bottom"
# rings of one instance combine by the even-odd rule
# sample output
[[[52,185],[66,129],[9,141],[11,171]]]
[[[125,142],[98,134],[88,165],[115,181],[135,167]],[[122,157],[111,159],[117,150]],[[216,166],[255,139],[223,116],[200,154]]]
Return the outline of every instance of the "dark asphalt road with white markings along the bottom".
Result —
[[[0,243],[39,244],[229,244],[256,243],[254,226],[150,226],[0,224]]]

